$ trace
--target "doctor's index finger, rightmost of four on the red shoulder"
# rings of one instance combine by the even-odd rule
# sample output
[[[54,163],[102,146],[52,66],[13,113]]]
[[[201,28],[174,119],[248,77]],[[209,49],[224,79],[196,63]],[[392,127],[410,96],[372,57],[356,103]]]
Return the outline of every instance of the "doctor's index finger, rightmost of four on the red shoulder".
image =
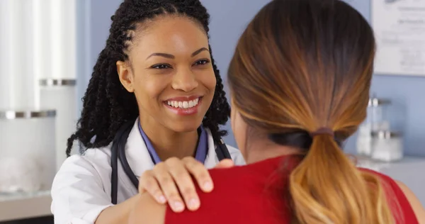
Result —
[[[214,188],[208,169],[193,157],[182,159],[188,172],[196,179],[200,189],[204,192],[210,192]]]

